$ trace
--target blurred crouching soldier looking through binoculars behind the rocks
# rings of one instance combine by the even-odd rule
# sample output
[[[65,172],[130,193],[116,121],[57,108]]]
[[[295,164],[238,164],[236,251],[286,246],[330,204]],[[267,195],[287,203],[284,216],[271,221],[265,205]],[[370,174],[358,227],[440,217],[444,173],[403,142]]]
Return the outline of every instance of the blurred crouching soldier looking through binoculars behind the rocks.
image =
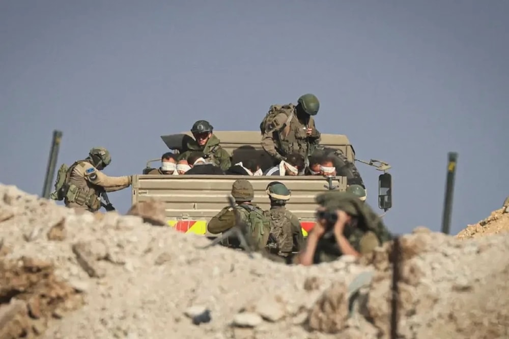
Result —
[[[356,195],[326,192],[315,200],[317,220],[295,263],[308,266],[342,255],[360,257],[392,239],[380,217]]]

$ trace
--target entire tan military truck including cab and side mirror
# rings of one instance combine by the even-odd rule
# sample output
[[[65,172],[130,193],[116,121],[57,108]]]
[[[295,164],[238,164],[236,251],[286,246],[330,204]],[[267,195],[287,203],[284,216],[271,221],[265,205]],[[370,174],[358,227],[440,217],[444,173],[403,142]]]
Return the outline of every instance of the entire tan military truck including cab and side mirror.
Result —
[[[272,166],[272,160],[261,147],[260,132],[254,131],[218,131],[214,132],[221,140],[221,146],[228,150],[232,156],[232,165],[246,159],[257,159],[262,170]],[[192,138],[190,132],[161,136],[166,146],[176,153],[185,151],[187,140]],[[340,152],[336,171],[338,175],[333,178],[323,176],[248,176],[248,175],[147,175],[133,176],[132,181],[132,204],[155,199],[162,201],[166,209],[166,221],[169,226],[180,232],[216,237],[217,235],[207,232],[207,223],[224,206],[228,204],[227,197],[232,190],[232,184],[239,178],[248,179],[254,189],[253,203],[263,209],[270,208],[269,198],[265,192],[267,184],[271,181],[284,183],[292,192],[292,197],[287,208],[297,215],[302,226],[302,233],[307,235],[313,228],[315,221],[315,196],[327,190],[345,191],[347,177],[358,175],[355,169],[352,173],[342,172],[346,168],[345,162],[354,164],[355,151],[347,136],[335,134],[322,134],[321,146]],[[160,158],[150,160],[159,162]],[[388,210],[391,207],[390,174],[386,171],[390,168],[387,163],[377,160],[369,162],[361,161],[374,166],[384,173],[379,176],[379,208]],[[351,165],[350,164],[350,165]],[[156,166],[157,167],[157,166]],[[352,167],[352,165],[350,166]]]

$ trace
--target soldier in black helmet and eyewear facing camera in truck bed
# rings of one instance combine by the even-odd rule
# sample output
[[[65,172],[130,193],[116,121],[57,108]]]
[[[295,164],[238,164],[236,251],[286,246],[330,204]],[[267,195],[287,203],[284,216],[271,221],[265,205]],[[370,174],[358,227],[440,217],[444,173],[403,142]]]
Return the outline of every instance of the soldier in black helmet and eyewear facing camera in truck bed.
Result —
[[[187,150],[180,155],[179,160],[187,160],[192,152],[201,151],[205,154],[206,160],[210,160],[223,171],[232,166],[228,151],[221,147],[221,141],[212,133],[213,129],[206,120],[194,122],[191,128],[194,140],[187,143]]]

